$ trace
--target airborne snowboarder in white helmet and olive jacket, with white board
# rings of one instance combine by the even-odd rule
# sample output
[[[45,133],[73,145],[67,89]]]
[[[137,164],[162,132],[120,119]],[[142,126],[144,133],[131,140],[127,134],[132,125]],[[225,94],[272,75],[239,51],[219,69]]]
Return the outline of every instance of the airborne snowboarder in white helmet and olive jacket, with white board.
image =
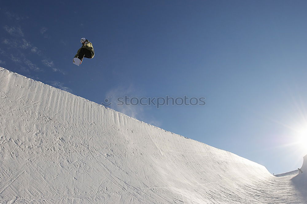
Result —
[[[82,47],[78,50],[73,59],[73,63],[78,66],[82,63],[84,57],[91,59],[95,55],[93,44],[90,41],[82,37],[80,42],[82,43]]]

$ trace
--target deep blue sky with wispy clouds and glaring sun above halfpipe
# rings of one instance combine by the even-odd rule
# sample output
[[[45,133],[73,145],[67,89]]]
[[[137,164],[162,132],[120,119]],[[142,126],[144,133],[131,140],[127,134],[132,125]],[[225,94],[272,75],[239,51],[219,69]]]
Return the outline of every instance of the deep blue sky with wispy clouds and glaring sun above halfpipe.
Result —
[[[306,9],[275,0],[5,1],[0,66],[99,104],[205,97],[204,106],[110,108],[283,173],[307,154]],[[81,37],[95,57],[77,67]]]

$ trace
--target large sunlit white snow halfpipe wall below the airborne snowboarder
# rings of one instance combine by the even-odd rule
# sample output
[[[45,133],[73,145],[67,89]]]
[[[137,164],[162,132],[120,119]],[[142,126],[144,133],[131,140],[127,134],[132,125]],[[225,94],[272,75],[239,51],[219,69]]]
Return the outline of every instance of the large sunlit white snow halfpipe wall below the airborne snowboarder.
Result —
[[[3,68],[0,112],[1,204],[307,203],[293,175]]]

